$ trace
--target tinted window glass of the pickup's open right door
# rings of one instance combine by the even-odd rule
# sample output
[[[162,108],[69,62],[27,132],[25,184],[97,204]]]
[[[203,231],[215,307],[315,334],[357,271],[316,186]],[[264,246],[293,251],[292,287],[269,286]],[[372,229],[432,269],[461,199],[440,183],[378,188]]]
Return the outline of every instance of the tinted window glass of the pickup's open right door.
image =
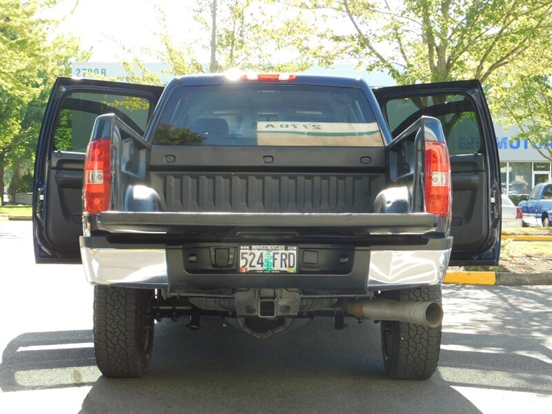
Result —
[[[391,99],[386,117],[393,137],[422,115],[441,121],[450,155],[482,152],[481,132],[473,103],[465,95],[428,95]]]

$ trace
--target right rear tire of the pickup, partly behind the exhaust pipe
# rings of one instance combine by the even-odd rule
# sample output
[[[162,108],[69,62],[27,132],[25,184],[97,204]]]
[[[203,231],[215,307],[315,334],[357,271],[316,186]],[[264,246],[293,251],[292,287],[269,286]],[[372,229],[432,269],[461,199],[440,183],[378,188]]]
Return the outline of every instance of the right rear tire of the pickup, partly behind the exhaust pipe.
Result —
[[[383,293],[404,302],[441,303],[441,286],[404,289]],[[441,329],[406,322],[382,321],[382,355],[389,377],[396,380],[427,380],[437,368]]]

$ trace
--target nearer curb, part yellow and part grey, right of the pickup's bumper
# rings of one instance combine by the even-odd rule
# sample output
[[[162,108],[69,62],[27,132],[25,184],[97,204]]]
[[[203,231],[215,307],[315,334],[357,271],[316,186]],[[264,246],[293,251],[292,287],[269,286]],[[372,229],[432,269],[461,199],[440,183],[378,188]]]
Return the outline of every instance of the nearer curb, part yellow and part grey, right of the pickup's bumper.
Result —
[[[552,272],[447,272],[443,283],[501,286],[551,285]]]

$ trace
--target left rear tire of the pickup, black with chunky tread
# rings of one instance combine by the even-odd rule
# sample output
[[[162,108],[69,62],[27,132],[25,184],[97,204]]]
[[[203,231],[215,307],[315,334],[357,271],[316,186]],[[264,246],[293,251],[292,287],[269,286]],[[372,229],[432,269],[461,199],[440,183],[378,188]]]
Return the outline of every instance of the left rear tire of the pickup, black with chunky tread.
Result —
[[[94,349],[106,377],[144,375],[153,348],[151,289],[94,287]]]

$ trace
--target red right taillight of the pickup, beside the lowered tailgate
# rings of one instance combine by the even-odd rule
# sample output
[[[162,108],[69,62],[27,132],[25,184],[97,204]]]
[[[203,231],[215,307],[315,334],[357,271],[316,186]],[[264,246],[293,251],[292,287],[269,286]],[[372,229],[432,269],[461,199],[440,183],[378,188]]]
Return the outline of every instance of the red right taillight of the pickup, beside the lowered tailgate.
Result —
[[[426,213],[451,217],[451,163],[446,144],[426,141],[424,194]]]

